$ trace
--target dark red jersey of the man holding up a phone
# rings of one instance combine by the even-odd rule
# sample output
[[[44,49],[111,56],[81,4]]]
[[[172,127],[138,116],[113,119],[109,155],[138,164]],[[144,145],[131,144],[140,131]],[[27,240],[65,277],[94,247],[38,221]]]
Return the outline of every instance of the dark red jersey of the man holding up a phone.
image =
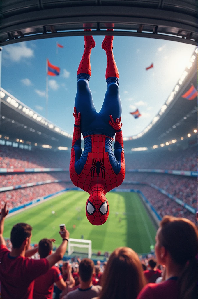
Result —
[[[11,257],[5,245],[0,245],[0,281],[3,299],[32,299],[34,280],[49,269],[47,259]]]

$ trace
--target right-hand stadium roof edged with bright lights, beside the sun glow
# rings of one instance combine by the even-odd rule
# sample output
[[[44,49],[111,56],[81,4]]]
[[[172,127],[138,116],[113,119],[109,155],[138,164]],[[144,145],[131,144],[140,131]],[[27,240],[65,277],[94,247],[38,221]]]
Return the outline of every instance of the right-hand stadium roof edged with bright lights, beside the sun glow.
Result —
[[[197,86],[198,48],[193,53],[185,71],[178,80],[168,99],[151,123],[139,134],[124,137],[125,149],[152,147],[171,140],[180,140],[197,128],[197,97],[193,100],[183,98],[191,87]],[[135,120],[133,120],[133,123]]]

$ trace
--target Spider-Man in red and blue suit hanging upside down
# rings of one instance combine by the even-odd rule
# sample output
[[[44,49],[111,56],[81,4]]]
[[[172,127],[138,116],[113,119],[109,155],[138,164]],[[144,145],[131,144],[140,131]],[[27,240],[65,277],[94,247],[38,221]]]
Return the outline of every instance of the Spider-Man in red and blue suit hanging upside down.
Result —
[[[119,74],[112,51],[113,36],[105,36],[102,48],[107,56],[107,91],[98,113],[89,89],[90,54],[95,47],[95,41],[93,36],[84,36],[84,40],[85,49],[77,73],[73,113],[75,125],[69,170],[72,183],[89,193],[86,202],[87,219],[94,225],[101,225],[109,216],[109,204],[105,195],[122,184],[125,177]],[[81,133],[84,138],[82,155]]]

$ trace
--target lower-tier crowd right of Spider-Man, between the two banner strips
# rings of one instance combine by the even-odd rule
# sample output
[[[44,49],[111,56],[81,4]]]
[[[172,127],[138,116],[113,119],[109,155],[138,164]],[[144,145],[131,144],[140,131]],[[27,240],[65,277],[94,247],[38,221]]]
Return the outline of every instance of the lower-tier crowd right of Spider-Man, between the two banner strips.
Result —
[[[126,173],[125,182],[154,184],[183,202],[197,208],[197,178],[155,173]]]

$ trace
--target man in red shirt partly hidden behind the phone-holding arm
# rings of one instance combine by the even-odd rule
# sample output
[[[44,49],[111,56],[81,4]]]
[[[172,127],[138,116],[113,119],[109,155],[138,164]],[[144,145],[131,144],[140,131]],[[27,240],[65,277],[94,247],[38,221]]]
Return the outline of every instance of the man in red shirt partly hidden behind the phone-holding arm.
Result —
[[[41,259],[52,254],[52,242],[55,242],[55,239],[42,239],[39,242],[38,253]],[[66,288],[61,271],[56,266],[52,266],[47,273],[35,279],[33,299],[52,299],[54,283],[61,290]]]

